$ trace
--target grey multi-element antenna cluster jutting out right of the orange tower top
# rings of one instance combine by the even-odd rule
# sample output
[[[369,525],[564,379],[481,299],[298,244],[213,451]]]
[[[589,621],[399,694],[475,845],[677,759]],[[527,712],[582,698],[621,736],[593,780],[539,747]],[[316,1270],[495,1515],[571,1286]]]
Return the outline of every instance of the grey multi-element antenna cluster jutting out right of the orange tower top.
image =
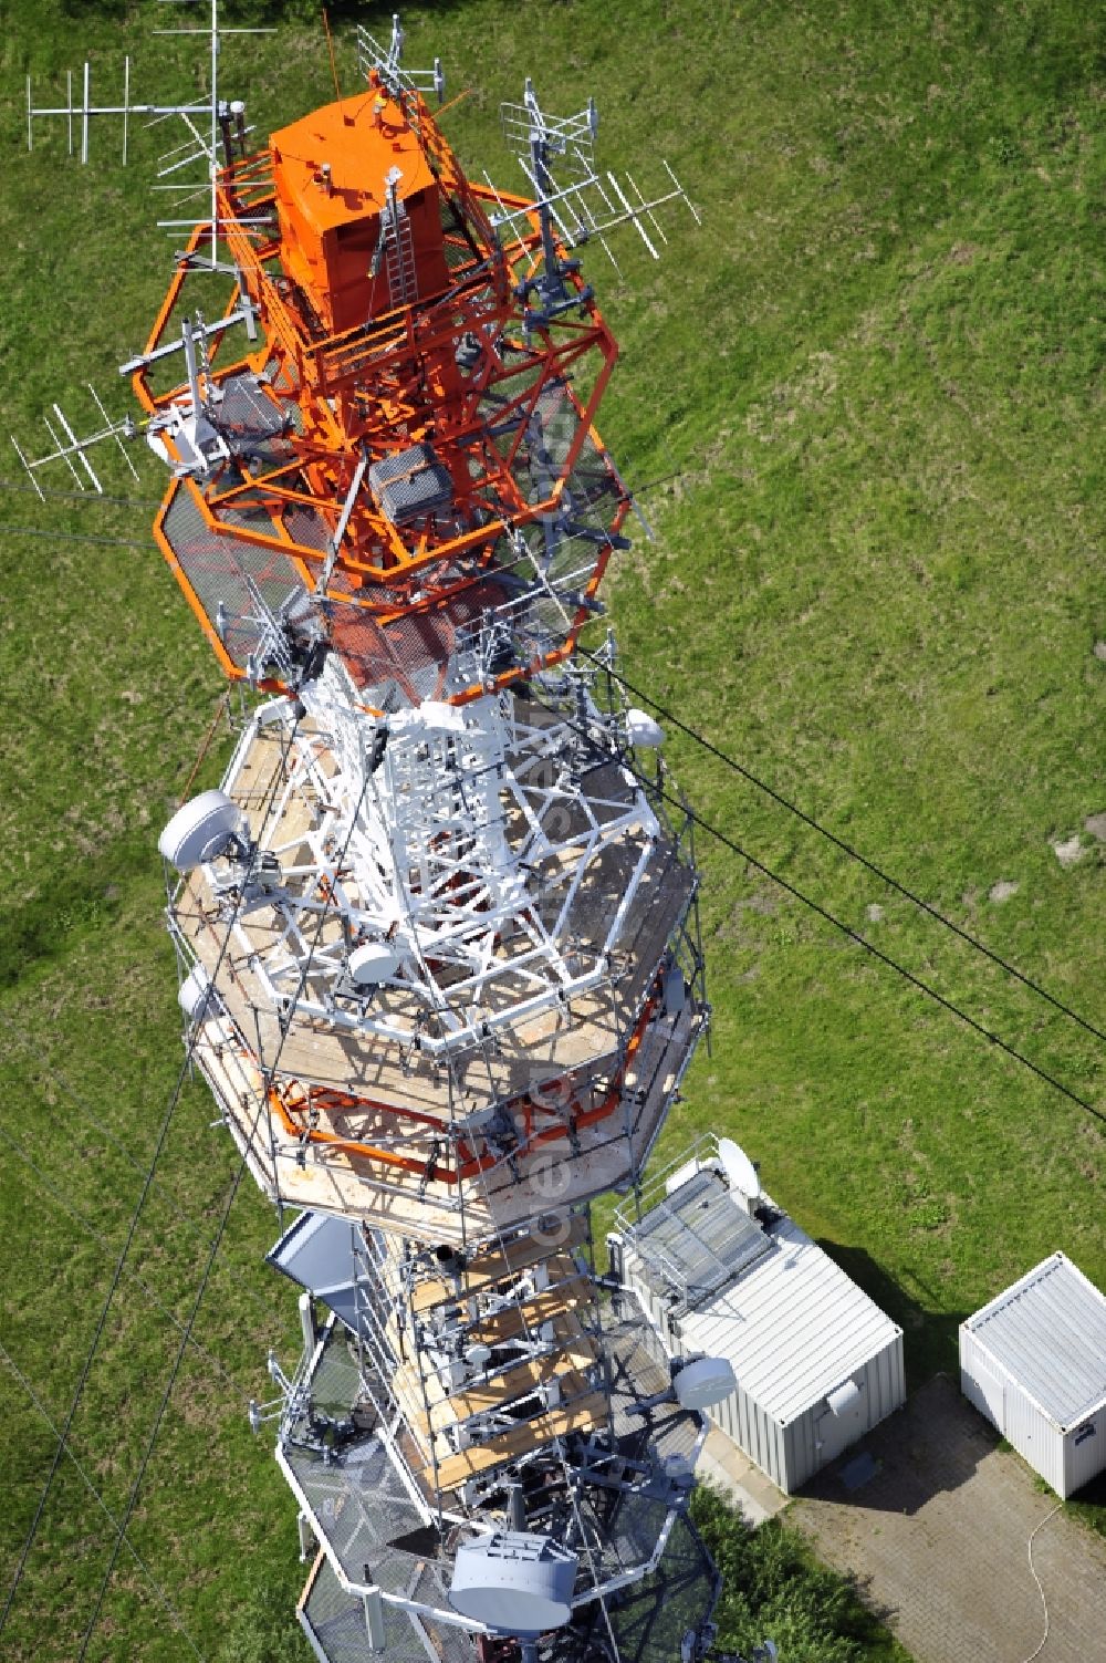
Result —
[[[492,216],[492,225],[497,229],[507,228],[521,241],[531,234],[531,215],[537,211],[546,269],[532,283],[542,301],[542,306],[531,313],[532,321],[547,323],[559,311],[579,306],[590,293],[580,294],[564,283],[567,273],[575,269],[575,261],[560,259],[554,228],[569,249],[597,238],[617,271],[619,263],[607,246],[607,233],[617,226],[632,225],[652,258],[660,259],[657,243],[669,239],[657,220],[659,208],[682,201],[695,225],[702,225],[699,211],[664,158],[670,190],[652,198],[639,190],[630,173],[622,183],[609,170],[599,171],[595,166],[599,111],[594,98],[589,98],[587,106],[577,115],[552,116],[542,110],[527,76],[522,103],[504,103],[501,123],[509,148],[519,156],[522,171],[534,186],[536,201],[529,208],[507,208],[497,198],[501,211]]]

